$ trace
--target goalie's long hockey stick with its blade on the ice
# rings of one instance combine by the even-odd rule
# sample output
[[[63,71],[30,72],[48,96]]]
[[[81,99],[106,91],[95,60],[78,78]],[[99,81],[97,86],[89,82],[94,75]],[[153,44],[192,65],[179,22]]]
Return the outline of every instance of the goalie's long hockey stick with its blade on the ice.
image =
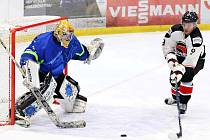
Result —
[[[18,70],[21,72],[23,77],[25,77],[25,73],[22,70],[21,66],[17,63],[15,58],[11,55],[9,50],[7,49],[6,45],[4,42],[0,39],[1,45],[4,47],[6,50],[7,54],[9,57],[12,59],[12,61],[15,63],[17,66]],[[49,118],[51,121],[59,128],[83,128],[86,126],[86,122],[84,120],[79,120],[79,121],[71,121],[71,122],[62,122],[59,120],[59,118],[56,116],[55,112],[52,110],[50,105],[47,103],[47,101],[43,98],[42,94],[40,93],[39,89],[31,87],[31,85],[26,85],[32,92],[32,94],[36,97],[37,101],[42,105],[42,107],[45,109],[47,112]]]

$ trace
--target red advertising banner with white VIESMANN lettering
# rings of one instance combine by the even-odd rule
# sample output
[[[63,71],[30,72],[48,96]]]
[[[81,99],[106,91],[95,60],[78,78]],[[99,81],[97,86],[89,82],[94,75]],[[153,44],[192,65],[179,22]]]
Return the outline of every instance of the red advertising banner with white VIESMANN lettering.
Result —
[[[200,16],[200,3],[200,0],[108,0],[107,26],[180,23],[188,10]]]

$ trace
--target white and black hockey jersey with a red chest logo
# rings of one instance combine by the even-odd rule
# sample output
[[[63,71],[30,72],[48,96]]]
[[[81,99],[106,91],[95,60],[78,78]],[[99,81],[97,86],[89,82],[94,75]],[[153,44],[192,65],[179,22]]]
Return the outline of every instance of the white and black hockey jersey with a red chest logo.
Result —
[[[179,43],[185,45],[179,46]],[[198,60],[205,56],[205,46],[202,44],[203,38],[198,27],[185,35],[182,25],[176,24],[165,34],[162,49],[165,57],[174,53],[180,64],[195,68]]]

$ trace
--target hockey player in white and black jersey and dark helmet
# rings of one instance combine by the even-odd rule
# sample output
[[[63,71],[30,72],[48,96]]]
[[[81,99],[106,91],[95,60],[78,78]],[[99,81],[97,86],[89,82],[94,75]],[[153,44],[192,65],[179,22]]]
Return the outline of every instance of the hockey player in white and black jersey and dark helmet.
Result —
[[[187,11],[182,16],[182,23],[173,25],[165,34],[162,44],[163,54],[171,69],[170,83],[172,98],[165,103],[176,103],[175,80],[180,93],[180,113],[185,114],[187,103],[193,92],[193,78],[204,67],[205,46],[199,28],[198,16]]]

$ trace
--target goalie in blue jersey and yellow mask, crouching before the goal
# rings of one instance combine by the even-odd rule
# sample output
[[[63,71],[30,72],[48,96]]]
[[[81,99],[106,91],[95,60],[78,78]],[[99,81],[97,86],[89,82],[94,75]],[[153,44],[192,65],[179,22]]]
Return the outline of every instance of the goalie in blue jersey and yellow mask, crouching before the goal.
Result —
[[[81,44],[74,35],[73,26],[62,20],[54,31],[38,35],[25,49],[20,65],[25,72],[23,84],[40,89],[48,101],[57,101],[65,112],[85,112],[87,98],[80,95],[78,82],[64,74],[70,60],[90,63],[99,57],[104,47],[102,39],[96,38],[89,45]],[[29,91],[16,101],[16,119],[30,118],[42,107]]]

